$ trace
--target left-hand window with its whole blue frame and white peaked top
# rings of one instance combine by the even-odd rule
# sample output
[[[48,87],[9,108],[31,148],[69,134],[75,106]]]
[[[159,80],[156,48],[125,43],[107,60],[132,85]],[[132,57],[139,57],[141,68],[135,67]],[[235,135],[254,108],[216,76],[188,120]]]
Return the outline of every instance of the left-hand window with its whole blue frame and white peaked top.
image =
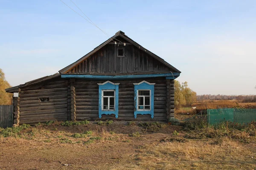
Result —
[[[99,118],[102,114],[115,114],[118,117],[119,83],[106,81],[99,85]]]

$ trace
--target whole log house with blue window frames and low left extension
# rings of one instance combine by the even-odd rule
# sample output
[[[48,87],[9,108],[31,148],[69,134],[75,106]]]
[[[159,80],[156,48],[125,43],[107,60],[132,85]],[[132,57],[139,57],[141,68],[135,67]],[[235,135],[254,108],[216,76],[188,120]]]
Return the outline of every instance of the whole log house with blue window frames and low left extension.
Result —
[[[51,120],[166,121],[180,71],[118,31],[59,73],[6,89],[14,124]]]

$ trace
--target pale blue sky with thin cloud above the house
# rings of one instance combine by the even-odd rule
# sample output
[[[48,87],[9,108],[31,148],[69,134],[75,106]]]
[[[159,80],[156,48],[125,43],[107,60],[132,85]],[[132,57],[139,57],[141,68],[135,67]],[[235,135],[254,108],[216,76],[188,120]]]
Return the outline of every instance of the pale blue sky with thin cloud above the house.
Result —
[[[81,11],[63,0],[75,11]],[[182,73],[197,94],[256,94],[255,0],[73,0]],[[0,68],[20,85],[57,73],[108,40],[60,0],[0,0]]]

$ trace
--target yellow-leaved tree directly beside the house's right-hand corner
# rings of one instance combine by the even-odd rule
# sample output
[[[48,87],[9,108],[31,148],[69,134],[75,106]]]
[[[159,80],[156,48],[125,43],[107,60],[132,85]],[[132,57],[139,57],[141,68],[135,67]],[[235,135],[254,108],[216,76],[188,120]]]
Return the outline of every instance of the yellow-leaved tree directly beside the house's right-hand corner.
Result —
[[[176,109],[179,109],[180,106],[185,105],[186,100],[182,93],[182,87],[179,81],[174,80],[174,105]]]

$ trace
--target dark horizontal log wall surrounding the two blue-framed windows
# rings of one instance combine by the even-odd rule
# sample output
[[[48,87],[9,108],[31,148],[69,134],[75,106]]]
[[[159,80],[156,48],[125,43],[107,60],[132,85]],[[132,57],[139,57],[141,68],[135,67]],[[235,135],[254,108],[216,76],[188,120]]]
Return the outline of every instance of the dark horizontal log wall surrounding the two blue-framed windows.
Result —
[[[134,119],[134,84],[143,80],[154,85],[154,118],[151,115],[137,115]],[[76,120],[116,120],[115,115],[102,115],[99,119],[99,85],[105,80],[87,81],[76,79]],[[141,121],[166,121],[166,98],[167,88],[165,78],[114,80],[119,84],[119,113],[118,120],[141,120]],[[174,95],[174,94],[173,94]],[[174,108],[174,105],[172,106]]]

